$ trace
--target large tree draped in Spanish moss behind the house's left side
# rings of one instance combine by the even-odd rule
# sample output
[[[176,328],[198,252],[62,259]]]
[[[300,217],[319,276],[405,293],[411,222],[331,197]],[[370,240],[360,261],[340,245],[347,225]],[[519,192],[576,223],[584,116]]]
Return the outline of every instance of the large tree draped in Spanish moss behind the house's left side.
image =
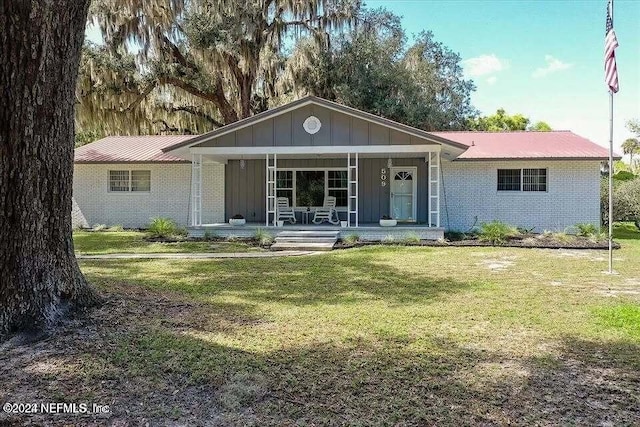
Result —
[[[78,124],[201,133],[264,111],[285,43],[304,36],[326,48],[359,11],[360,0],[95,0],[104,45],[85,47]]]

